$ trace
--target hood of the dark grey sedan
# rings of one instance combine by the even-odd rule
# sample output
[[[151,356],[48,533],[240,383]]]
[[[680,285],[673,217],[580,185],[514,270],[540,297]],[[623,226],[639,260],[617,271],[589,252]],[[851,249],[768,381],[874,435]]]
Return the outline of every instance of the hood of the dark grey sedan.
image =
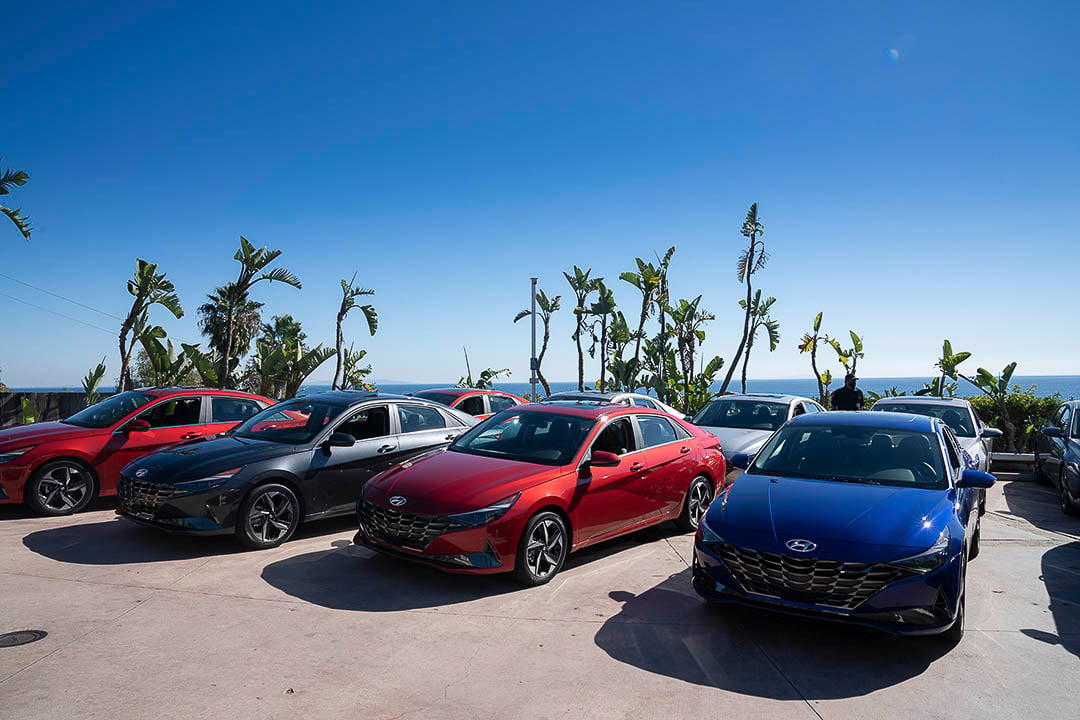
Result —
[[[136,471],[145,470],[147,480],[184,483],[297,451],[294,445],[232,436],[195,440],[139,458],[124,467],[123,475],[132,477]]]

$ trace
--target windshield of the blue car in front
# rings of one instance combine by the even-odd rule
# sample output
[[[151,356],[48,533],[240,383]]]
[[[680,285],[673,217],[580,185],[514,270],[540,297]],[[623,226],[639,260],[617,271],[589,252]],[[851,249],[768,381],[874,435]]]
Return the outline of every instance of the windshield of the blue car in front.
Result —
[[[932,433],[862,425],[787,425],[746,471],[843,483],[945,489],[941,444]]]

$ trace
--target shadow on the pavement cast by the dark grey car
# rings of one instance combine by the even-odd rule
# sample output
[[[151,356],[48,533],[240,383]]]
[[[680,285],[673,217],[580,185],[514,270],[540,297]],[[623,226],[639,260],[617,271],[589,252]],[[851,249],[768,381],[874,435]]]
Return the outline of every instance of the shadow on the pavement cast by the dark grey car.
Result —
[[[306,522],[297,529],[291,542],[341,532],[354,526],[355,520],[351,517]],[[104,522],[38,530],[23,538],[23,545],[52,560],[77,565],[170,562],[246,552],[231,534],[171,535],[120,517]]]

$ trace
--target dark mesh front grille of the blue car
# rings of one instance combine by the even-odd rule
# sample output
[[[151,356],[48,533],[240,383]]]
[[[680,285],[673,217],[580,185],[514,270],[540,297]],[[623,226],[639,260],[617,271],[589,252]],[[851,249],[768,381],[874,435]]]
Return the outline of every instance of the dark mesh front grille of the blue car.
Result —
[[[712,547],[747,593],[841,610],[854,610],[890,583],[914,574],[882,562],[796,557],[730,543]]]

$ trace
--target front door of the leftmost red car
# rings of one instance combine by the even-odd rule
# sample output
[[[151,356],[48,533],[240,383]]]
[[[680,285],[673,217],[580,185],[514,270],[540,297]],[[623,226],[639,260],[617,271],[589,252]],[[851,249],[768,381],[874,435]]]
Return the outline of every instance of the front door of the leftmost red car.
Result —
[[[111,493],[120,479],[120,470],[145,454],[170,445],[193,440],[205,434],[208,407],[203,395],[181,395],[158,400],[140,410],[134,418],[145,420],[149,430],[136,432],[126,427],[129,420],[109,436],[102,454],[95,459],[102,492]]]

